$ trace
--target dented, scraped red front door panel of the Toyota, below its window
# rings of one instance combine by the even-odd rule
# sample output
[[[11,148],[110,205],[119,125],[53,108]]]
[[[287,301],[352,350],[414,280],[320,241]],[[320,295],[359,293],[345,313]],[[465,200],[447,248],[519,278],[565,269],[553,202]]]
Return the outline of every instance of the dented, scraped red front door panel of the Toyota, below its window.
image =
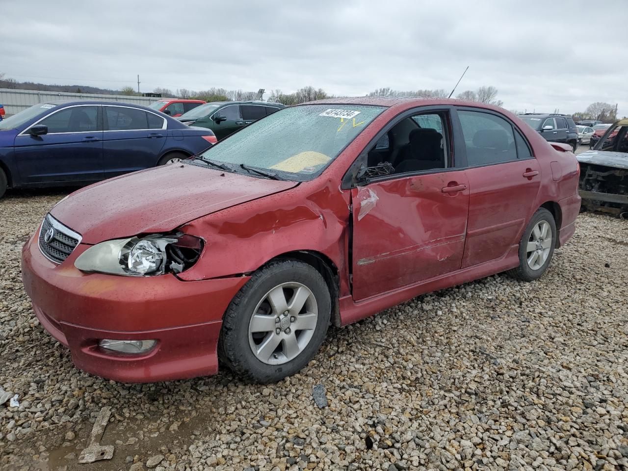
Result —
[[[372,182],[351,195],[355,301],[461,268],[469,205],[464,171]]]

